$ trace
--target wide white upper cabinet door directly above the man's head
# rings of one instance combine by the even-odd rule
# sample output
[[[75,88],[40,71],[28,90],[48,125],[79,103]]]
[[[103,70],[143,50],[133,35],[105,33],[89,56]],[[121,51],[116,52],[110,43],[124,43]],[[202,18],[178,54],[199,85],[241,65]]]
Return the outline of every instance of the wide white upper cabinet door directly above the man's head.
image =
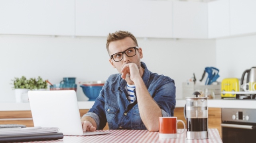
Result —
[[[136,37],[172,37],[172,1],[76,0],[76,35],[107,36],[130,31]]]

